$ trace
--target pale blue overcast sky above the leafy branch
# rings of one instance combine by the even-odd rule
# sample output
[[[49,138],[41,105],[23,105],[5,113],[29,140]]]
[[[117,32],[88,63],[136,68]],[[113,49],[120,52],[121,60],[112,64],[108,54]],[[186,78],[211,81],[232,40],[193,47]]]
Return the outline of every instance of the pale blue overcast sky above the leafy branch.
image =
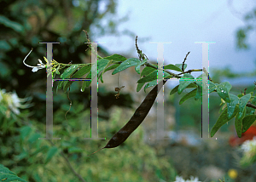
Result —
[[[231,4],[229,2],[232,2]],[[245,26],[244,14],[254,7],[253,0],[215,1],[173,1],[173,0],[129,0],[118,1],[118,17],[129,13],[129,20],[119,25],[119,31],[128,29],[138,36],[138,46],[149,60],[157,60],[157,45],[149,42],[172,42],[165,44],[165,65],[182,63],[190,51],[187,69],[201,68],[201,43],[215,42],[209,46],[211,68],[230,66],[232,71],[253,71],[256,69],[256,33],[251,32],[247,43],[249,50],[236,49],[236,31]],[[104,3],[102,3],[104,7]],[[140,39],[150,37],[146,42]],[[95,41],[111,54],[131,54],[137,57],[134,40],[131,37],[99,37]],[[200,73],[201,74],[201,73]],[[198,76],[199,73],[192,73]],[[250,82],[255,78],[241,78],[237,82]],[[252,80],[252,81],[251,81]],[[229,80],[228,80],[229,81]]]

